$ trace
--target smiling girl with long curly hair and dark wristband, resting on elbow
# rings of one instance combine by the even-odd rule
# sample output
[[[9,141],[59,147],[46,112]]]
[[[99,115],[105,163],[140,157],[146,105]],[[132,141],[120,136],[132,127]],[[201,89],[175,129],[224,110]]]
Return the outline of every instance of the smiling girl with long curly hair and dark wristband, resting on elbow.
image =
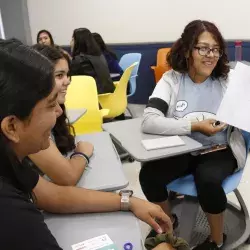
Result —
[[[58,86],[58,103],[62,114],[57,117],[56,124],[51,132],[50,146],[36,154],[29,155],[35,166],[54,183],[58,185],[74,186],[82,176],[87,165],[85,161],[68,159],[71,152],[81,152],[90,158],[93,154],[93,145],[80,141],[75,145],[75,138],[70,134],[72,126],[69,124],[65,110],[65,96],[70,84],[69,65],[70,59],[59,49],[37,44],[35,50],[47,57],[54,65],[54,78]]]

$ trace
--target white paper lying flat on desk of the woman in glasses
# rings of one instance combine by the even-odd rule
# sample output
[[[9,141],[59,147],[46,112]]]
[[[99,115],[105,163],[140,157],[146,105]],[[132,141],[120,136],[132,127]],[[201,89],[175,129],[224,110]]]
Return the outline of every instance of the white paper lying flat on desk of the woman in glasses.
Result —
[[[156,139],[142,140],[142,145],[146,150],[170,148],[185,145],[185,142],[178,136],[165,136]]]

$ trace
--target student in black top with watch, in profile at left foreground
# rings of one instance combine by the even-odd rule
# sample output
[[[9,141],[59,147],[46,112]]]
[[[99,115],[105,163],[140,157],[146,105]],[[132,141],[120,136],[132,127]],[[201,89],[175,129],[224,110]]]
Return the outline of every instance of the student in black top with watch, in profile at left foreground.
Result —
[[[27,155],[49,147],[62,112],[59,90],[53,64],[34,49],[14,39],[0,40],[0,58],[0,248],[59,250],[38,208],[52,213],[111,212],[121,209],[121,197],[55,185],[22,163]],[[80,153],[73,159],[85,161]],[[157,205],[131,197],[129,209],[158,232],[171,229],[169,217]]]

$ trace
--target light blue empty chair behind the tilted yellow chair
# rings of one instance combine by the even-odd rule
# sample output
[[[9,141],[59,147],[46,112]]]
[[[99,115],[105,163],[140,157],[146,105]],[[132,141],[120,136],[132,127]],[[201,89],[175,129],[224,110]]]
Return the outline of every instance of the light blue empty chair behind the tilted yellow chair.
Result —
[[[139,66],[141,63],[141,53],[128,53],[122,56],[119,65],[121,66],[121,68],[123,69],[123,71],[125,71],[131,64],[138,62],[138,64],[134,67],[130,79],[129,79],[129,95],[127,97],[131,97],[133,95],[135,95],[136,92],[136,79],[138,76],[138,70],[139,70]],[[132,111],[130,110],[129,107],[127,107],[128,112],[130,113],[131,117],[134,117]]]

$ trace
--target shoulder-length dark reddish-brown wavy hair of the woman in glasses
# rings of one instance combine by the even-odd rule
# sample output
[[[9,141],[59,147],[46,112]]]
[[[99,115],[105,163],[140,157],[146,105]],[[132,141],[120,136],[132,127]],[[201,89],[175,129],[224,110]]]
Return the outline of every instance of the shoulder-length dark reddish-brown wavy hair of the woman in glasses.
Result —
[[[213,35],[223,53],[219,58],[217,65],[211,74],[211,77],[221,77],[226,79],[230,70],[226,53],[226,44],[215,24],[208,21],[194,20],[190,22],[185,27],[181,37],[174,43],[173,47],[171,48],[171,51],[167,56],[167,62],[170,67],[173,68],[173,70],[176,70],[180,73],[187,73],[188,63],[186,55],[192,55],[192,51],[198,43],[198,38],[204,31],[207,31]]]

